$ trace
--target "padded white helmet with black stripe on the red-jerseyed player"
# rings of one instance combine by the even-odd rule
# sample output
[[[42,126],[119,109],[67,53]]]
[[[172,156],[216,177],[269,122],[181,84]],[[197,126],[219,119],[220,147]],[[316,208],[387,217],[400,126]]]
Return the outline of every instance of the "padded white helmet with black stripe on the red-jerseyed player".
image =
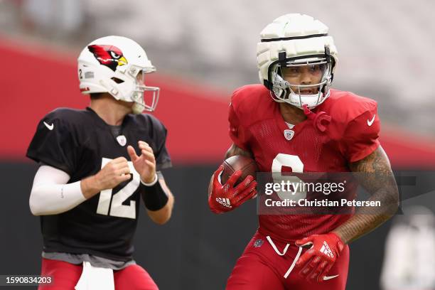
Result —
[[[269,23],[260,36],[259,80],[276,102],[287,102],[301,109],[306,104],[312,109],[329,97],[338,53],[325,24],[311,16],[286,14]],[[284,80],[281,68],[302,66],[316,66],[321,70],[320,82],[304,85]]]

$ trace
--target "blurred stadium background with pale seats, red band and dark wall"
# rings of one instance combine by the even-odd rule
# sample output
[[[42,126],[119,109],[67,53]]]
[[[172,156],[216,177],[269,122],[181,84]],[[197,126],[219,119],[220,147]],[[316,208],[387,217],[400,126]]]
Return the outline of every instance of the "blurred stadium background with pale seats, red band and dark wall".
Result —
[[[176,205],[163,227],[142,211],[136,261],[161,289],[223,289],[257,227],[256,209],[250,202],[213,215],[207,186],[230,145],[230,93],[258,82],[259,31],[290,12],[326,23],[339,50],[334,87],[379,102],[381,142],[395,171],[427,171],[435,167],[435,73],[429,56],[434,9],[429,0],[0,1],[0,274],[40,270],[39,220],[28,210],[37,166],[24,155],[44,114],[87,105],[75,67],[86,43],[111,34],[131,37],[158,69],[147,83],[161,87],[155,115],[169,130],[174,166],[164,175]],[[411,203],[434,205],[435,198],[426,194]],[[350,246],[348,289],[380,289],[390,225]]]

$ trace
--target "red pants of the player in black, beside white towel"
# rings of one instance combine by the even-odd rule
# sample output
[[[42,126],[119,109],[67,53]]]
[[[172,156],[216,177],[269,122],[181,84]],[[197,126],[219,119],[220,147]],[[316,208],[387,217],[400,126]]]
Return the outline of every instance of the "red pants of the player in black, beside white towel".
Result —
[[[39,290],[74,290],[83,266],[68,262],[44,259],[42,261],[41,275],[52,276],[53,283],[40,285]],[[127,268],[113,272],[116,290],[158,290],[151,276],[139,265],[133,264]]]

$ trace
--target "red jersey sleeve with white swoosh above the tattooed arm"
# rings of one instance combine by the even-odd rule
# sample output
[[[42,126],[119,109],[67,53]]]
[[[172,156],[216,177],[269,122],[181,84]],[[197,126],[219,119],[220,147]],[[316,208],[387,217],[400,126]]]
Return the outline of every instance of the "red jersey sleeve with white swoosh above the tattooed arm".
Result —
[[[355,162],[370,155],[380,145],[379,131],[377,104],[372,102],[372,106],[350,121],[345,129],[341,149],[345,158]]]

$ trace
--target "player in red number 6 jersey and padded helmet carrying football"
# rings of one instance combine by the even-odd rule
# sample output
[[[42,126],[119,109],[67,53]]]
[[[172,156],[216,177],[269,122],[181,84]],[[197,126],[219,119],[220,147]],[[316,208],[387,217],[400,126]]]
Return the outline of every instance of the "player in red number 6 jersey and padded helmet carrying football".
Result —
[[[390,162],[380,146],[377,103],[333,90],[338,62],[328,27],[311,16],[286,14],[261,32],[257,64],[262,85],[235,90],[230,104],[232,146],[225,158],[251,156],[259,171],[360,172],[360,184],[380,208],[347,215],[267,215],[237,260],[227,289],[345,289],[348,243],[375,229],[397,209]],[[257,194],[236,171],[220,183],[212,176],[208,203],[214,213],[237,208]],[[356,186],[351,189],[355,190]],[[227,198],[230,206],[218,198]]]

